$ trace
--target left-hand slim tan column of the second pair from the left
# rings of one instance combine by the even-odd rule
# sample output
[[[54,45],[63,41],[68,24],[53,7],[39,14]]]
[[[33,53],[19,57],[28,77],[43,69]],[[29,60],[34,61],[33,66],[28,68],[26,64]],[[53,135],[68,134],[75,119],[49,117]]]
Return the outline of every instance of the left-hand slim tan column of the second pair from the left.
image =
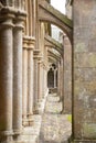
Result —
[[[23,125],[28,125],[28,41],[23,40],[23,88],[22,88],[22,110]]]

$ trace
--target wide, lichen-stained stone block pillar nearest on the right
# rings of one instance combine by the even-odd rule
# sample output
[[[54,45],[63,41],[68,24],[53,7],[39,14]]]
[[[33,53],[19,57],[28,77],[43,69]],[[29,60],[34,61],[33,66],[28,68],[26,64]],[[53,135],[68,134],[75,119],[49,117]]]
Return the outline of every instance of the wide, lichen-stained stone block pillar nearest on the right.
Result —
[[[96,143],[96,0],[74,0],[74,143]]]

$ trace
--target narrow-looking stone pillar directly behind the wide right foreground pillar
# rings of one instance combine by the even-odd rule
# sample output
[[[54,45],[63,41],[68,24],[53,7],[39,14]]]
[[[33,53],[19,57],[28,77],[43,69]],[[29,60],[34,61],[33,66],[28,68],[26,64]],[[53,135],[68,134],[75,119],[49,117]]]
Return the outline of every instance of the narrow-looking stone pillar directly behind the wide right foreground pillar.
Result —
[[[64,35],[63,51],[63,112],[72,112],[72,46],[70,40]]]

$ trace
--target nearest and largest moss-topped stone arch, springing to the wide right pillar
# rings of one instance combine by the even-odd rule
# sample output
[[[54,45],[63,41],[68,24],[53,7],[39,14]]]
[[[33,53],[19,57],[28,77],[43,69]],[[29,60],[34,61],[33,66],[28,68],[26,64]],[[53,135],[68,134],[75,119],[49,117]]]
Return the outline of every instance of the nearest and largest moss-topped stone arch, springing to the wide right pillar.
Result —
[[[72,43],[72,21],[44,0],[39,1],[39,20],[58,26],[66,33]]]

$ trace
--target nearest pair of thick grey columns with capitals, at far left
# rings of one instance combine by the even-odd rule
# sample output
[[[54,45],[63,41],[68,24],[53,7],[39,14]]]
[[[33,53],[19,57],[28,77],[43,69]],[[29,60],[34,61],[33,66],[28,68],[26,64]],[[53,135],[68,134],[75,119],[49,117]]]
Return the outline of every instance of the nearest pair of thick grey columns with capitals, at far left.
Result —
[[[22,131],[22,30],[24,12],[3,9],[0,20],[0,141]],[[18,15],[17,15],[18,14]]]

